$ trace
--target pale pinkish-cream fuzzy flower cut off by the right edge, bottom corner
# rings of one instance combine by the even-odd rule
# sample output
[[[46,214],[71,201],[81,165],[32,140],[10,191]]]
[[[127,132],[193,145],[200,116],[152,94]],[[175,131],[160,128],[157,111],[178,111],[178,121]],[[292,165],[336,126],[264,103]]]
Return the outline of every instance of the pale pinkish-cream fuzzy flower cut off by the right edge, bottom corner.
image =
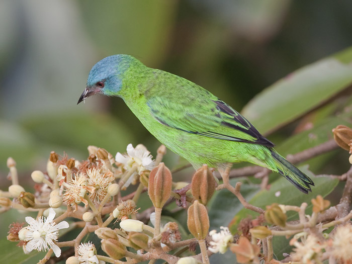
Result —
[[[352,225],[338,226],[332,237],[331,255],[339,263],[351,263],[352,259]],[[349,262],[348,262],[349,261]]]

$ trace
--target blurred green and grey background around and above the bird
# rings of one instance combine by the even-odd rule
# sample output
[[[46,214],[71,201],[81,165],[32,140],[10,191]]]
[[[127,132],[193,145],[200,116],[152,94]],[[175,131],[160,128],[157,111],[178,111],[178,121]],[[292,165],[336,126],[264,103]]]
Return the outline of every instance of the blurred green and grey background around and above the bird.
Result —
[[[116,154],[143,143],[155,154],[159,143],[122,100],[76,105],[91,67],[106,56],[134,55],[240,111],[278,79],[350,46],[351,12],[349,1],[2,0],[0,177],[8,156],[28,179],[45,170],[51,150],[83,159],[88,145]],[[292,130],[269,138],[280,142]]]

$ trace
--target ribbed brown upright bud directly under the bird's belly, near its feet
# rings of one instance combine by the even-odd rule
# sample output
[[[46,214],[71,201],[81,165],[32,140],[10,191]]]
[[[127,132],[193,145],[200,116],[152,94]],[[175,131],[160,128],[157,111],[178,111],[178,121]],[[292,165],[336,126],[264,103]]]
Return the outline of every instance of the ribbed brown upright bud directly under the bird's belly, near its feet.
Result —
[[[194,173],[192,178],[192,194],[193,197],[206,205],[213,196],[216,188],[216,181],[213,173],[204,164]]]

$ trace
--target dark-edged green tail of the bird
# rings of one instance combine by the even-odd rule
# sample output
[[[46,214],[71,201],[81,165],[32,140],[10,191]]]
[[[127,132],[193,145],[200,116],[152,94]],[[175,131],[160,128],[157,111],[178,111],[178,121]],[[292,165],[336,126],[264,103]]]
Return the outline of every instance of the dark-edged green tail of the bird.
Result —
[[[273,148],[270,148],[270,151],[276,161],[276,166],[281,175],[296,186],[301,192],[308,194],[308,192],[312,191],[310,186],[314,186],[314,183],[306,174],[299,170],[295,165],[287,161]]]

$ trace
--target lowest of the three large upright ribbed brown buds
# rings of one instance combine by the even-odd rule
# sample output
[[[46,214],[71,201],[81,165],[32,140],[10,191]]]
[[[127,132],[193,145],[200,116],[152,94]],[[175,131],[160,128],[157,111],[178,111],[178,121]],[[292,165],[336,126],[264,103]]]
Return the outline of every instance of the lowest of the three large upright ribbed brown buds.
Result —
[[[187,226],[198,240],[205,239],[209,231],[209,216],[207,208],[196,200],[188,208]]]

